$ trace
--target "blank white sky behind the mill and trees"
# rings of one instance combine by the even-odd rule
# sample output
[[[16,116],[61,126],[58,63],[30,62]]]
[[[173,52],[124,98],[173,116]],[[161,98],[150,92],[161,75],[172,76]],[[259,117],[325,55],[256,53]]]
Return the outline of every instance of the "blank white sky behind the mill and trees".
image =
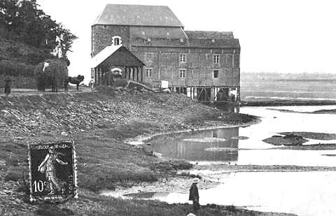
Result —
[[[333,0],[38,0],[78,39],[70,75],[90,80],[91,25],[106,3],[169,6],[186,30],[233,31],[241,72],[336,73]]]

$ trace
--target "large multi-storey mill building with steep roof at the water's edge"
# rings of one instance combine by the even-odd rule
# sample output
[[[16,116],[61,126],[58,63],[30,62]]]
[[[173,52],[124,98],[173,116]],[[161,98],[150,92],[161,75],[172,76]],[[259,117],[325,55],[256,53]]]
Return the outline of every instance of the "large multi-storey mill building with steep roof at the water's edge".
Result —
[[[109,55],[113,45],[123,45],[144,66],[102,67],[104,58],[96,55]],[[96,79],[118,67],[125,78],[137,74],[153,85],[167,80],[173,91],[199,101],[239,101],[238,39],[232,32],[186,31],[167,6],[106,5],[92,24],[91,55]]]

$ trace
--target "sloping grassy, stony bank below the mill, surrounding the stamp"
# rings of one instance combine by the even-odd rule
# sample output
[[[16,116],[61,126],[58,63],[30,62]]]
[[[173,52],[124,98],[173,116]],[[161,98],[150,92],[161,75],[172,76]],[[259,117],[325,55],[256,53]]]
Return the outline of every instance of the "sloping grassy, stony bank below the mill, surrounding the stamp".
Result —
[[[182,94],[45,94],[0,100],[0,215],[187,215],[190,205],[99,196],[102,189],[153,182],[190,168],[163,161],[124,143],[162,131],[251,122],[255,117],[223,113]],[[64,132],[64,133],[62,133]],[[63,135],[61,135],[63,134]],[[80,199],[59,205],[27,203],[27,143],[76,142]],[[25,181],[23,180],[25,179]],[[265,215],[204,206],[202,215]],[[269,215],[269,214],[266,214]]]

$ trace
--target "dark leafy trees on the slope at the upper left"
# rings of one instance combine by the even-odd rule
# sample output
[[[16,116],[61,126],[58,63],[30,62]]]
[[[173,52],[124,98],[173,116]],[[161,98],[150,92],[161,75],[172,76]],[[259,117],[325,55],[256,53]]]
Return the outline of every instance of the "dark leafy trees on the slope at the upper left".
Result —
[[[6,38],[22,41],[39,50],[66,58],[76,36],[69,29],[52,20],[39,8],[36,0],[0,0],[0,29]]]

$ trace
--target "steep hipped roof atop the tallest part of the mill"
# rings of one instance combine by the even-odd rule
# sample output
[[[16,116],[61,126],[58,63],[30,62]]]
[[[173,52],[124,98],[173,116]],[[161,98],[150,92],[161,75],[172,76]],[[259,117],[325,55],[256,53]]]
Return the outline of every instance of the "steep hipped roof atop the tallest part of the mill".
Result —
[[[107,4],[92,25],[183,27],[168,6]]]

